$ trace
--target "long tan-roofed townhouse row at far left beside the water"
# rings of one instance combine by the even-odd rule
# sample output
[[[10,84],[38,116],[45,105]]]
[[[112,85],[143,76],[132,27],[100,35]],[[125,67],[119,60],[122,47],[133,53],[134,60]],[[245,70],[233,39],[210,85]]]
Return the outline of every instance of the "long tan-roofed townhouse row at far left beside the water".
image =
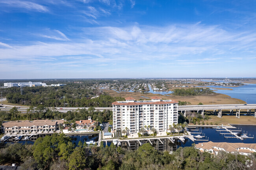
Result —
[[[54,132],[58,124],[63,124],[62,120],[34,120],[34,121],[10,121],[2,124],[5,134],[11,133],[36,133],[36,132]]]

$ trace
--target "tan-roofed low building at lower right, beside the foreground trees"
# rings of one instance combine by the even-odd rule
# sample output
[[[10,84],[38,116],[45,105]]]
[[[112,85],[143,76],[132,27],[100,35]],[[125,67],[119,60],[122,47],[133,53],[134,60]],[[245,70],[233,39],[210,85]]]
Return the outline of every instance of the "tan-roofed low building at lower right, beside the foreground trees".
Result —
[[[256,152],[256,143],[227,143],[227,142],[206,142],[195,144],[195,147],[201,152],[210,152],[217,155],[221,150],[228,153],[239,153],[241,155],[250,155]]]

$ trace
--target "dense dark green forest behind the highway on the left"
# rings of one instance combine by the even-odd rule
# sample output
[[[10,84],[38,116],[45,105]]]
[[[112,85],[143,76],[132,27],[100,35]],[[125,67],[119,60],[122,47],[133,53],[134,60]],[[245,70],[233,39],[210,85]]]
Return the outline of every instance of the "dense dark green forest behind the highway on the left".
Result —
[[[42,104],[45,107],[63,107],[64,96],[66,107],[111,107],[112,102],[124,100],[121,97],[111,97],[107,93],[89,88],[85,84],[61,87],[24,87],[23,95],[20,94],[20,88],[16,87],[4,88],[2,91],[8,102],[31,106]]]

